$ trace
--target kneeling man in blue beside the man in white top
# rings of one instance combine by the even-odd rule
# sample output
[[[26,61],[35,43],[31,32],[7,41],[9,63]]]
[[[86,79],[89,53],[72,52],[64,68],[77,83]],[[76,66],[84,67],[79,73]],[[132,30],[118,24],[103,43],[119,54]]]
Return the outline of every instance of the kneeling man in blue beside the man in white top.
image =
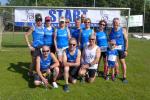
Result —
[[[68,80],[70,79],[70,82],[75,84],[78,75],[81,52],[76,46],[76,39],[71,38],[69,40],[69,48],[65,49],[63,52],[64,79],[66,82],[64,86],[65,92],[69,92]]]

